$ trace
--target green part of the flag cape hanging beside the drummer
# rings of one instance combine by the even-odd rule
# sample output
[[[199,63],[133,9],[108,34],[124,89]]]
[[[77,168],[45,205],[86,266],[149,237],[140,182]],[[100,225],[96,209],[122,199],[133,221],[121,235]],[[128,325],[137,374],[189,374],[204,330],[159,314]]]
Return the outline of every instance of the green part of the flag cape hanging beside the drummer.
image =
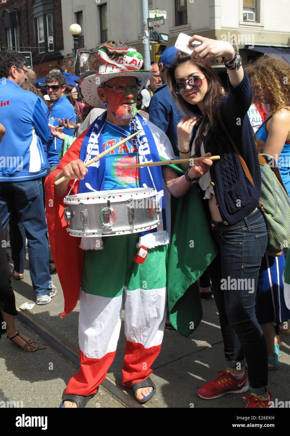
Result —
[[[165,160],[160,157],[160,160]],[[180,176],[179,165],[168,165]],[[188,337],[202,319],[198,279],[217,255],[207,216],[194,185],[183,197],[171,196],[171,242],[167,290],[169,320]]]

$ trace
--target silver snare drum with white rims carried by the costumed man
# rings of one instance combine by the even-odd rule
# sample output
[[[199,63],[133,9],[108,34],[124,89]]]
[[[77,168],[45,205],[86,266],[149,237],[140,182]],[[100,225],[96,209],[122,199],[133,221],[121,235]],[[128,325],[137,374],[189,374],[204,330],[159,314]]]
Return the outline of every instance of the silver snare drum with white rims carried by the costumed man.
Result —
[[[116,189],[67,195],[64,218],[71,236],[113,236],[145,232],[159,224],[153,188]]]

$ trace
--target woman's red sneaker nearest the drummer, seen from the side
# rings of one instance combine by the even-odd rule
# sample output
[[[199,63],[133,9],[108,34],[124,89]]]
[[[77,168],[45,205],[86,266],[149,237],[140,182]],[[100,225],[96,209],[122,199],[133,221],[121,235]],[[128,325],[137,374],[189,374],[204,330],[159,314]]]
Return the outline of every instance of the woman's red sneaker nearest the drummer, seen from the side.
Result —
[[[240,380],[231,375],[230,371],[218,372],[221,372],[218,378],[197,390],[197,395],[200,398],[211,400],[222,397],[225,394],[238,394],[249,390],[246,372]]]

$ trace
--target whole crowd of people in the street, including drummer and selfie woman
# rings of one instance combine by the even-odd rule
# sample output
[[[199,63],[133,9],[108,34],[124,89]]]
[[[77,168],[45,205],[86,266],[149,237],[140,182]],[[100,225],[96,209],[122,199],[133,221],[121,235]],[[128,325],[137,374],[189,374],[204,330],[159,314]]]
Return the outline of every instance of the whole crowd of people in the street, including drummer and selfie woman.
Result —
[[[198,35],[190,43],[194,40],[201,44],[191,56],[169,47],[148,71],[141,69],[137,51],[107,41],[99,49],[98,71],[86,72],[77,89],[53,70],[46,77],[47,95],[31,83],[36,77],[20,53],[0,52],[5,102],[0,154],[6,162],[0,167],[0,236],[10,239],[13,260],[9,272],[2,245],[0,313],[7,337],[25,351],[36,351],[37,344],[14,327],[17,310],[10,276],[23,279],[26,241],[37,304],[48,304],[57,295],[51,279],[55,272],[65,298],[62,316],[73,310],[80,294],[80,371],[70,379],[60,407],[85,407],[96,395],[116,353],[123,308],[123,385],[132,388],[137,402],[150,400],[156,392],[151,367],[163,330],[167,326],[191,334],[193,330],[184,333],[180,319],[191,310],[196,329],[200,299],[217,305],[225,371],[197,395],[209,400],[250,390],[247,407],[273,403],[268,371],[279,366],[281,330],[290,334],[282,279],[290,262],[285,263],[287,246],[276,256],[266,250],[258,153],[276,159],[289,191],[290,91],[284,82],[290,65],[263,56],[246,72],[230,43]],[[210,66],[216,56],[227,68],[227,91]],[[135,137],[119,144],[133,133]],[[192,158],[197,158],[194,163]],[[160,165],[174,159],[187,161]],[[135,167],[125,173],[120,170],[123,162]],[[116,220],[111,195],[132,197],[153,188],[160,205],[156,225],[133,225],[123,235],[100,230],[107,237],[87,237],[80,230],[82,237],[75,238],[67,232],[63,198],[93,202],[101,191],[107,203],[105,229]],[[179,206],[183,198],[187,210]],[[199,216],[190,215],[190,206]],[[184,235],[175,225],[178,213],[188,214]],[[185,249],[197,226],[195,231],[204,235],[198,267]],[[172,260],[180,256],[179,247],[182,265]],[[101,272],[109,264],[108,282]],[[234,288],[233,279],[247,286]]]

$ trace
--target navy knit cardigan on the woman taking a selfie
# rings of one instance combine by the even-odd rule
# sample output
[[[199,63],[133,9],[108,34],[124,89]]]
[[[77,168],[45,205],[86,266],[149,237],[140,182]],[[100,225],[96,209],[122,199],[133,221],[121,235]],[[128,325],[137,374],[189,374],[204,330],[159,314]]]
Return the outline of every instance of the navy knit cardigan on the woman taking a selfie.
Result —
[[[210,176],[217,199],[220,216],[229,225],[249,215],[259,206],[261,195],[261,173],[253,130],[247,111],[252,103],[253,91],[244,70],[243,80],[236,86],[229,82],[230,92],[220,101],[220,115],[245,160],[253,184],[249,181],[237,154],[225,154],[210,167]],[[226,137],[226,134],[224,133]],[[210,142],[210,149],[218,149],[219,143]]]

